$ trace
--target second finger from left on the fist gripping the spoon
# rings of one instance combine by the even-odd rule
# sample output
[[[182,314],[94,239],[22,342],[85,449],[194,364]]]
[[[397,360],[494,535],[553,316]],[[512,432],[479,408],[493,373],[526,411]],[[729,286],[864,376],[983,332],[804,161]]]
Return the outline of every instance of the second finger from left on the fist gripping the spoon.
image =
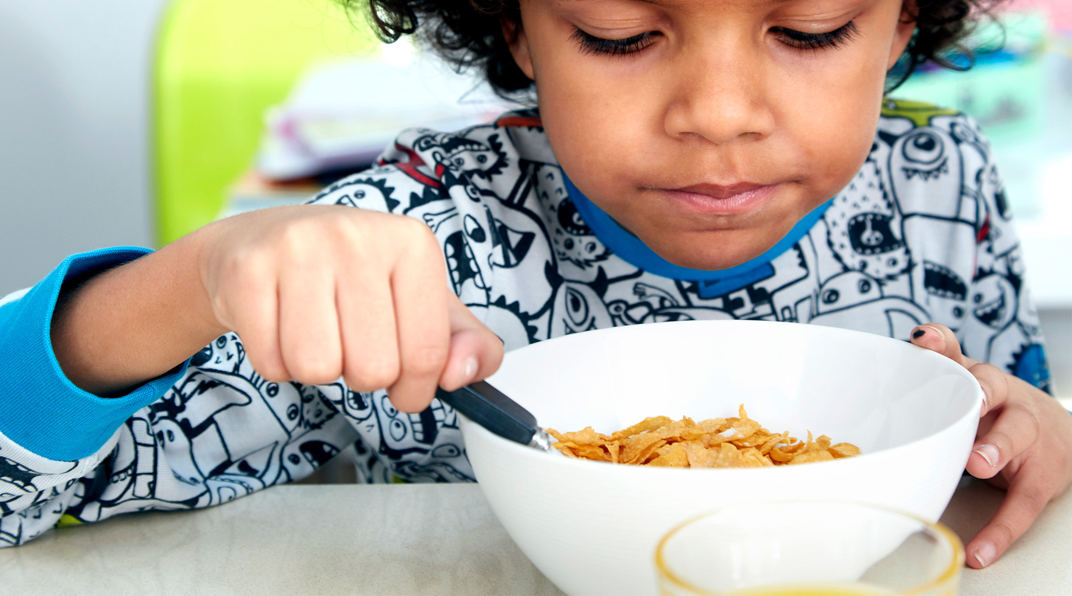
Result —
[[[334,297],[334,274],[329,267],[298,259],[281,272],[279,341],[286,370],[299,383],[327,385],[342,375]]]

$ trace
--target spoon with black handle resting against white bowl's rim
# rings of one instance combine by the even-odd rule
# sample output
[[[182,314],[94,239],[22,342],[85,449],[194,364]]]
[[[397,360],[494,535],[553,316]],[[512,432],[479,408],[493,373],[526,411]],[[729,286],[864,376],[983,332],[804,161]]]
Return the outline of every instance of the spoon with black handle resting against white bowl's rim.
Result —
[[[549,453],[554,438],[536,423],[536,417],[483,381],[457,391],[436,389],[435,397],[464,414],[470,420],[515,443]]]

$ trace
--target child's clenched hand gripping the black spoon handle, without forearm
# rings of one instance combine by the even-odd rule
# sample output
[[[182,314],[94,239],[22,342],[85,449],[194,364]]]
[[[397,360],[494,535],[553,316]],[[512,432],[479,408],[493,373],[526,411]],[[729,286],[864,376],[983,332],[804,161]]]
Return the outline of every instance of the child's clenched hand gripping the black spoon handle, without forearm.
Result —
[[[198,262],[211,313],[273,382],[387,388],[407,413],[435,387],[498,368],[503,344],[448,289],[443,252],[417,220],[303,205],[203,228]]]

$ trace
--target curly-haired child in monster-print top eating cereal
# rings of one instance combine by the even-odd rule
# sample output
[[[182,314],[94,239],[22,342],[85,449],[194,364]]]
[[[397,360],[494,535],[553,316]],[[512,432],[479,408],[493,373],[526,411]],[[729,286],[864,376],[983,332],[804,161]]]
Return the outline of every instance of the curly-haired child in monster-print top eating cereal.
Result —
[[[405,131],[311,205],[76,255],[12,298],[4,543],[229,501],[349,444],[366,481],[472,480],[437,385],[490,375],[504,346],[690,318],[911,337],[967,367],[987,396],[968,471],[1009,487],[974,567],[1069,485],[1072,417],[1040,389],[989,146],[883,99],[970,2],[372,4],[385,35],[419,23],[539,108]]]

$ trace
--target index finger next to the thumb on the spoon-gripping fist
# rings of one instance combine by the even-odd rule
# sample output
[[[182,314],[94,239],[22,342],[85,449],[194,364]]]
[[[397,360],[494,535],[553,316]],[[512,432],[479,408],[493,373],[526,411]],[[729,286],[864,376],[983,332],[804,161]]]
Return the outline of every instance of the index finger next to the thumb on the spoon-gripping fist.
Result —
[[[431,232],[416,225],[421,229],[408,238],[408,250],[391,273],[401,368],[387,394],[405,413],[420,412],[432,402],[450,349],[443,252]]]

